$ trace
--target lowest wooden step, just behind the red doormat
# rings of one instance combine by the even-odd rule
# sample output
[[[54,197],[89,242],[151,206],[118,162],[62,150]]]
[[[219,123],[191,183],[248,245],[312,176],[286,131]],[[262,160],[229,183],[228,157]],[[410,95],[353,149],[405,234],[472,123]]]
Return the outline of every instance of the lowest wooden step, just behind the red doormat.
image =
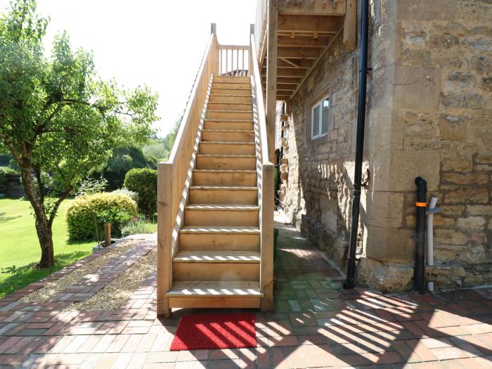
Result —
[[[259,308],[259,281],[189,280],[176,281],[167,292],[169,307]]]

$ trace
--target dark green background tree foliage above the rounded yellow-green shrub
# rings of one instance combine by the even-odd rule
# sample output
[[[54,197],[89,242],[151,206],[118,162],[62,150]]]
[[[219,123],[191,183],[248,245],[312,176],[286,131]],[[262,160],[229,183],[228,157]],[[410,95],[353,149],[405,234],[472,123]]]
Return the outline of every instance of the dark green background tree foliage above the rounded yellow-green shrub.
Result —
[[[108,190],[116,190],[123,186],[124,176],[133,168],[157,169],[157,159],[144,155],[141,148],[116,148],[103,165],[91,172],[91,176],[103,176],[108,180]]]

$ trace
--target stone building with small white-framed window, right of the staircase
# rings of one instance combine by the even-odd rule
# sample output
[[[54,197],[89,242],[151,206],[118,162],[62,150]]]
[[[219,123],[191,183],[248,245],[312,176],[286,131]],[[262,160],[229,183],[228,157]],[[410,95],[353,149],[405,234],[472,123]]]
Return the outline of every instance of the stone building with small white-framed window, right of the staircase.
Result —
[[[416,176],[444,209],[434,216],[429,280],[442,289],[492,283],[492,3],[373,0],[369,43],[358,283],[412,287]],[[292,96],[278,140],[280,204],[341,268],[358,55],[334,41]]]

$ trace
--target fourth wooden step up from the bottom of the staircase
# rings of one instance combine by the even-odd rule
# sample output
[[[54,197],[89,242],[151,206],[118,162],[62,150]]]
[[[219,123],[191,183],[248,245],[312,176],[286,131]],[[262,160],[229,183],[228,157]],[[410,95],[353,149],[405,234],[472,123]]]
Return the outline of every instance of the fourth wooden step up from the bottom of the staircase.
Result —
[[[186,226],[258,226],[257,205],[188,205]]]

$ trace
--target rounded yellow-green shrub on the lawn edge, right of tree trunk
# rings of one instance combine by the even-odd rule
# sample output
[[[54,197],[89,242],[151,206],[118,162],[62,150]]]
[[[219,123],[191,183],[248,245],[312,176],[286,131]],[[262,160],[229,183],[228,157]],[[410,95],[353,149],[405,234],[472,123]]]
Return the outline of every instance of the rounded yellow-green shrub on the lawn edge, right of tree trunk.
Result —
[[[136,216],[136,204],[126,195],[96,193],[75,199],[65,214],[70,240],[83,240],[96,237],[94,217],[102,229],[102,223],[110,221],[116,235],[122,223]],[[100,237],[102,233],[99,233]]]

